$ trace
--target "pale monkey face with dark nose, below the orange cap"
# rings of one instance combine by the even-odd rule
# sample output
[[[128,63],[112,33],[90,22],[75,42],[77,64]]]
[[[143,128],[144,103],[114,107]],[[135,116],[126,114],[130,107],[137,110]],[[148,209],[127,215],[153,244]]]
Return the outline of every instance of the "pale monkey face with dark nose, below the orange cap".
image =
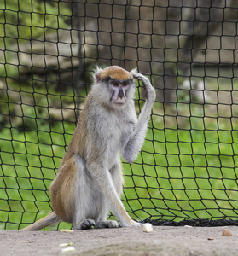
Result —
[[[110,79],[108,81],[108,86],[111,94],[110,101],[113,103],[114,106],[119,108],[125,106],[127,94],[132,84],[132,79]]]

